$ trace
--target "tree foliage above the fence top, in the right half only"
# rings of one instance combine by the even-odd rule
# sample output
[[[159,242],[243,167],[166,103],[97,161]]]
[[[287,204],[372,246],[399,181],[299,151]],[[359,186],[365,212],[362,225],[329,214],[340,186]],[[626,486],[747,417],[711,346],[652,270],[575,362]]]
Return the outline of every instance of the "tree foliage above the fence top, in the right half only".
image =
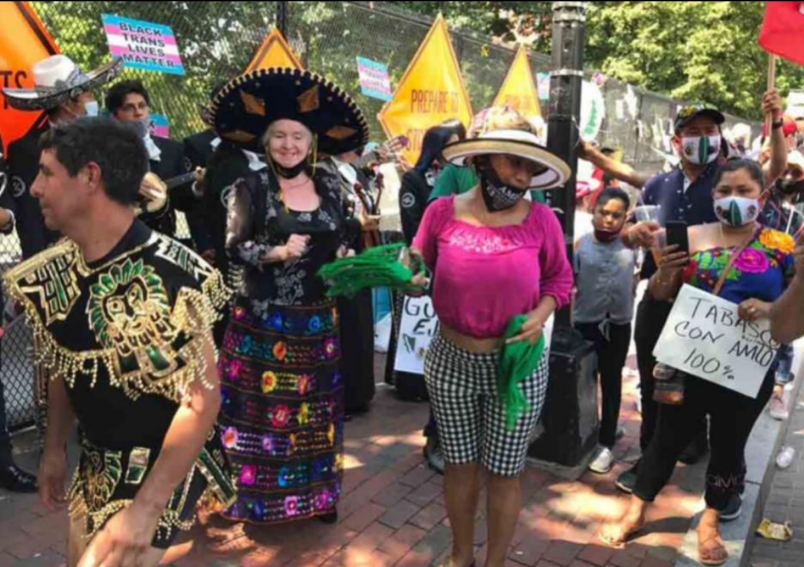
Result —
[[[396,2],[451,25],[550,52],[550,2]],[[761,118],[767,54],[757,44],[764,2],[587,2],[587,69],[676,99]],[[777,87],[804,88],[804,69],[780,62]]]

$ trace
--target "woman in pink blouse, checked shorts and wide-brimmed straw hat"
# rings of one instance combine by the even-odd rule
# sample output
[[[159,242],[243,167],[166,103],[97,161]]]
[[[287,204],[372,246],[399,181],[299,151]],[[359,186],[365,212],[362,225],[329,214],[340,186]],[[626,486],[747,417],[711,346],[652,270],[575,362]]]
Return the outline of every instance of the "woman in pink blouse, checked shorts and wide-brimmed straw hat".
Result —
[[[492,113],[480,137],[447,146],[444,156],[475,169],[478,187],[427,209],[414,254],[434,273],[441,322],[425,364],[447,462],[444,489],[453,533],[449,567],[474,566],[474,518],[481,470],[488,475],[486,567],[503,567],[521,505],[519,477],[547,390],[548,364],[520,382],[528,409],[513,430],[497,396],[497,363],[509,321],[527,315],[509,342],[538,342],[556,308],[567,304],[572,269],[550,208],[529,189],[563,185],[569,168],[539,145],[530,123],[511,110]]]

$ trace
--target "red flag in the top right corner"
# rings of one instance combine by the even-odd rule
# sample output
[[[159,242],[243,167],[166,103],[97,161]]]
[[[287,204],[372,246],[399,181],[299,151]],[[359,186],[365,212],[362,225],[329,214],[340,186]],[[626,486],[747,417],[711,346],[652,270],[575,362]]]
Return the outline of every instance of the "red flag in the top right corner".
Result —
[[[804,2],[767,2],[759,44],[768,53],[804,65]]]

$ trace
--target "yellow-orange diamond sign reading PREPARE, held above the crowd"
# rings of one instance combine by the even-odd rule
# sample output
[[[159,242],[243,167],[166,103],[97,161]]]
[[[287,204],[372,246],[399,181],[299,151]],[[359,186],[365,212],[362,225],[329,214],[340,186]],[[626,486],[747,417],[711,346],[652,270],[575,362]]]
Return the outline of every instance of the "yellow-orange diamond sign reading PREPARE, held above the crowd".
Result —
[[[428,128],[456,118],[467,126],[471,122],[472,105],[443,16],[427,32],[378,118],[389,138],[408,138],[402,155],[410,164],[419,158]]]

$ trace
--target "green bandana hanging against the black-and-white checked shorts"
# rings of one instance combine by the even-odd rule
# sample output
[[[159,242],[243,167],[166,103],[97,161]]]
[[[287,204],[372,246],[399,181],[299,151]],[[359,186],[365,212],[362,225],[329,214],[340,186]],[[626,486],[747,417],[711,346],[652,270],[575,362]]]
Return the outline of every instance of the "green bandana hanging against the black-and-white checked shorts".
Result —
[[[512,317],[505,329],[505,340],[522,332],[522,326],[528,320],[525,315]],[[528,410],[528,401],[519,387],[519,383],[528,378],[536,368],[544,354],[544,334],[532,345],[528,341],[505,344],[500,352],[497,365],[497,395],[505,407],[505,428],[513,431],[519,416]]]

